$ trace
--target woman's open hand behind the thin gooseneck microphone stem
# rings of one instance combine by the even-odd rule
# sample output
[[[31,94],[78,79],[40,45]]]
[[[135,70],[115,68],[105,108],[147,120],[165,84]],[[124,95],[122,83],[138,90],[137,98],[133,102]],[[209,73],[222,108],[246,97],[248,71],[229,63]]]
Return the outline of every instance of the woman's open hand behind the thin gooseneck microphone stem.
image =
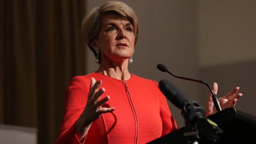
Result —
[[[228,107],[234,107],[236,105],[236,102],[243,94],[237,93],[240,87],[235,87],[231,92],[226,94],[226,96],[223,96],[219,98],[219,103],[221,105],[221,109],[226,109]],[[212,90],[214,94],[217,94],[218,91],[218,85],[217,83],[213,83]],[[211,98],[211,94],[208,98],[208,102],[206,104],[206,116],[209,116],[211,114],[216,113],[217,110],[214,106],[214,103]]]

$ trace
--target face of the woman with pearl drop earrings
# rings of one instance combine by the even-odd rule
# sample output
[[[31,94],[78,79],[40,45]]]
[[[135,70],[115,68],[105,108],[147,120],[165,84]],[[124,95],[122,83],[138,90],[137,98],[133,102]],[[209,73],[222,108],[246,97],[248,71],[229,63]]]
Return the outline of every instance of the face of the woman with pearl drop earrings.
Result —
[[[102,17],[101,30],[96,47],[100,48],[102,61],[121,61],[134,53],[135,35],[133,26],[126,18],[108,13]]]

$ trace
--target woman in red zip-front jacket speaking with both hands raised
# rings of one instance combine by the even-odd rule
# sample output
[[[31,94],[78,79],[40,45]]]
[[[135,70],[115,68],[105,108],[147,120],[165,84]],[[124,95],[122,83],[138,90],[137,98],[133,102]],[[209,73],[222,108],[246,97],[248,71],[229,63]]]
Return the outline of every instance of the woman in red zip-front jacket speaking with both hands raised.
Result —
[[[100,66],[70,82],[56,144],[147,143],[176,130],[158,83],[128,71],[139,33],[132,8],[123,2],[95,7],[82,33]],[[235,105],[242,95],[238,89],[220,98],[223,108]],[[216,83],[213,90],[217,93]],[[216,112],[211,96],[207,108],[207,114]]]

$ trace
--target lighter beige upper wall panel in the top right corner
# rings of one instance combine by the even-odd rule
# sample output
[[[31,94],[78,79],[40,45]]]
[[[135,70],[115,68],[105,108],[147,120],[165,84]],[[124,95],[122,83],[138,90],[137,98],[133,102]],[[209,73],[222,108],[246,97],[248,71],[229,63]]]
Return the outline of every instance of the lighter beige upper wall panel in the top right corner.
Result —
[[[199,65],[256,60],[256,0],[198,0]]]

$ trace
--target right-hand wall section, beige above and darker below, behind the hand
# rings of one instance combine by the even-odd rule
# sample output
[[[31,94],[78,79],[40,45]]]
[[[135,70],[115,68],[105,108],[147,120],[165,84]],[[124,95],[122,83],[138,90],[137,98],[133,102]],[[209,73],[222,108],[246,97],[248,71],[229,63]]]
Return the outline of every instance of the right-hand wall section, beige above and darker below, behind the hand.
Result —
[[[256,115],[256,1],[198,0],[200,78],[219,84],[218,96],[236,86],[237,109]],[[208,92],[200,87],[201,103]]]

